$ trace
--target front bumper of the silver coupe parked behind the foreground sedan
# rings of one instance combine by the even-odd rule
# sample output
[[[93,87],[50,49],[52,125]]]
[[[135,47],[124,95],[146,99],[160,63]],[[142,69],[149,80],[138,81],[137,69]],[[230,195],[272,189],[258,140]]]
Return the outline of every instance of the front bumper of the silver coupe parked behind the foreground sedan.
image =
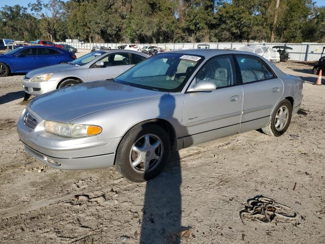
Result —
[[[49,81],[29,81],[30,79],[22,80],[22,87],[25,93],[30,95],[40,96],[42,94],[52,92],[57,87],[59,80]]]

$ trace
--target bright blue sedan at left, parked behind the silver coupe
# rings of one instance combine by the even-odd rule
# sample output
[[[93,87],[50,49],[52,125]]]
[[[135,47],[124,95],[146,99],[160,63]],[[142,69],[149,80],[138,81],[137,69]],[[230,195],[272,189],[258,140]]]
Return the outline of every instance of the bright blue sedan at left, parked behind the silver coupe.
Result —
[[[0,54],[0,77],[14,73],[27,73],[31,70],[76,59],[74,53],[61,48],[27,46]]]

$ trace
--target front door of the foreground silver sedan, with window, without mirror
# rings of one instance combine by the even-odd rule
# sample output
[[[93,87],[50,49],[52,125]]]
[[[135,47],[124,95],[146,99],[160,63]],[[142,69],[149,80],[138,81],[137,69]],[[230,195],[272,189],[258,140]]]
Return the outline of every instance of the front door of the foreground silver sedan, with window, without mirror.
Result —
[[[212,92],[184,95],[184,146],[236,134],[240,127],[243,88],[238,82],[231,55],[211,58],[192,82],[212,81]],[[191,84],[193,85],[193,84]]]

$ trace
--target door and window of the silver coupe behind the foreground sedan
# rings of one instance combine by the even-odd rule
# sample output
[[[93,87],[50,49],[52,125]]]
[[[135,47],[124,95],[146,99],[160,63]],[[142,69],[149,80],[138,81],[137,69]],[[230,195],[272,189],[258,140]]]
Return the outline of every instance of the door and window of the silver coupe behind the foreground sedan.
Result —
[[[98,62],[103,62],[104,66],[97,67],[93,64],[89,68],[89,81],[115,78],[133,66],[130,54],[127,52],[108,54]]]

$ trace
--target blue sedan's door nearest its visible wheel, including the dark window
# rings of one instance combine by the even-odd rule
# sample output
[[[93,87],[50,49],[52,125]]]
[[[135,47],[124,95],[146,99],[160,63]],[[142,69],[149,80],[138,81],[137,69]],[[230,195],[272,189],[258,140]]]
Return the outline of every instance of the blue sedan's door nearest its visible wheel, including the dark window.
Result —
[[[15,73],[26,73],[40,67],[38,48],[24,48],[18,52],[11,62],[11,70]]]

